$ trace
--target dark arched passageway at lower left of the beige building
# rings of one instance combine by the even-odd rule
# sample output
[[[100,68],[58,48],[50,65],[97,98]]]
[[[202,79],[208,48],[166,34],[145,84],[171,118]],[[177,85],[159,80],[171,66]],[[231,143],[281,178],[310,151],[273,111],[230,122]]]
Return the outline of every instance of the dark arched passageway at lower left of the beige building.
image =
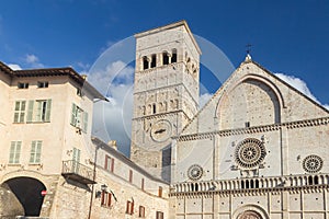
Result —
[[[46,191],[46,186],[36,178],[32,177],[14,177],[5,181],[1,187],[7,188],[10,196],[10,203],[21,207],[24,216],[37,217],[41,214],[44,196],[42,191]],[[15,212],[7,212],[8,216]]]

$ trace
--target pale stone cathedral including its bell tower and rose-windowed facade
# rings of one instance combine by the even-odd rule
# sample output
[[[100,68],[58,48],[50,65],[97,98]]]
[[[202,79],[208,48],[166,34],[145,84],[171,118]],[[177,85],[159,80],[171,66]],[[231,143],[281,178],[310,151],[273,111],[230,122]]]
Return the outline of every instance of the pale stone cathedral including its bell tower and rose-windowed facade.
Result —
[[[170,183],[169,218],[329,218],[324,106],[248,55],[198,110],[186,22],[135,37],[131,157]]]

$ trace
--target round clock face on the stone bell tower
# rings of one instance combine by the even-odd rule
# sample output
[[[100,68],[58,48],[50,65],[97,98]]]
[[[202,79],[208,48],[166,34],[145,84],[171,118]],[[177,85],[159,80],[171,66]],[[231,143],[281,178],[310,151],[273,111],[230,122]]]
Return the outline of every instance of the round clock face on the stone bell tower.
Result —
[[[152,140],[163,142],[171,137],[171,123],[169,120],[158,120],[150,130]]]

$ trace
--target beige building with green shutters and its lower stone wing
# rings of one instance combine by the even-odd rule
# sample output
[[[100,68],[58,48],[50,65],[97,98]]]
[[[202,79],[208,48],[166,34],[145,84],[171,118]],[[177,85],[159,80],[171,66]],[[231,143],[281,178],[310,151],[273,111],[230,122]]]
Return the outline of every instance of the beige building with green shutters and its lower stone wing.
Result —
[[[91,137],[84,76],[1,62],[0,89],[0,218],[168,218],[169,185]]]

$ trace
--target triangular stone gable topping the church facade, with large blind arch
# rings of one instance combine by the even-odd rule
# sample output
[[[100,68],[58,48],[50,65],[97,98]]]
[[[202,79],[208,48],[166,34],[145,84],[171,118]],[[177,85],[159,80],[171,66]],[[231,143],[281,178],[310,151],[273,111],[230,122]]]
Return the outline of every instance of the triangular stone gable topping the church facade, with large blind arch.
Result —
[[[328,111],[260,65],[247,60],[182,135],[265,126],[328,116]]]

